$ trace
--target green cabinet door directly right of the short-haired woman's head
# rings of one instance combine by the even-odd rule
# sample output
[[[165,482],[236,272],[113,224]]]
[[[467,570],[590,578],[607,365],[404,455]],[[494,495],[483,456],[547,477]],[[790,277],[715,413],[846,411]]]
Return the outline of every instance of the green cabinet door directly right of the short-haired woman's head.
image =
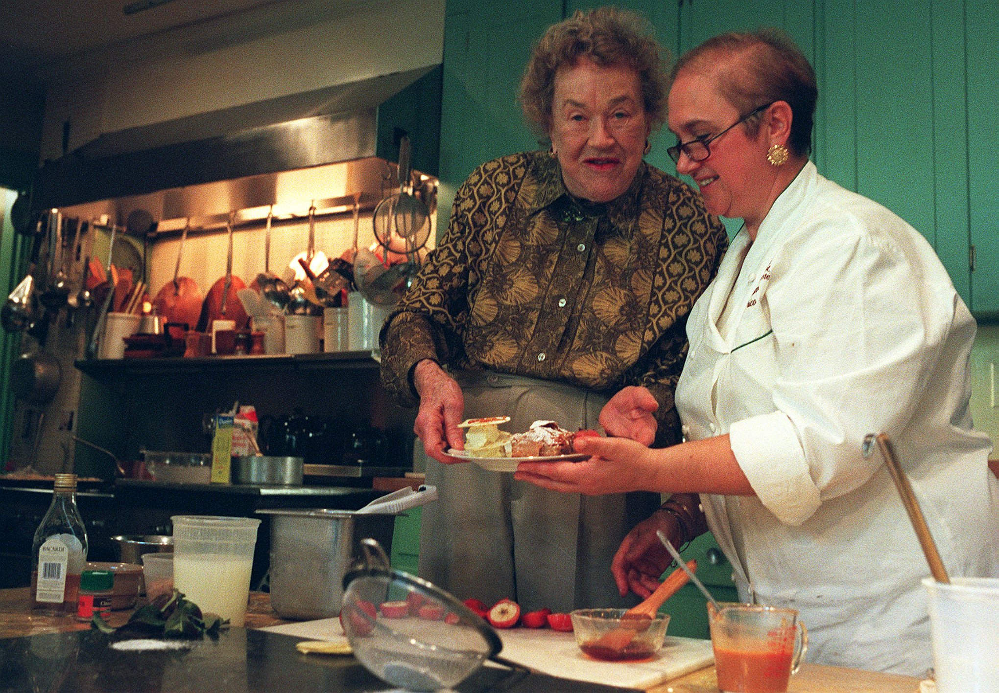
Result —
[[[825,171],[935,243],[932,22],[894,0],[829,0]]]

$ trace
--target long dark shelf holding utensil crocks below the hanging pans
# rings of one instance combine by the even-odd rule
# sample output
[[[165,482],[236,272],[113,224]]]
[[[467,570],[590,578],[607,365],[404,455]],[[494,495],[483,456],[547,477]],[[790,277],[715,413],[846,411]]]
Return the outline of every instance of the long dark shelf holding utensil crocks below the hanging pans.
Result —
[[[150,373],[203,373],[225,370],[314,370],[377,369],[379,351],[333,351],[330,353],[279,353],[184,358],[81,358],[78,370],[93,377]]]

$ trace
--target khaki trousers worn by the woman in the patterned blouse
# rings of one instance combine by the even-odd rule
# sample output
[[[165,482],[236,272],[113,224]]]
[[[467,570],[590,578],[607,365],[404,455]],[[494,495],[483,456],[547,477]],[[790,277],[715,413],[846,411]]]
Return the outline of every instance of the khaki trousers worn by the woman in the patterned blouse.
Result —
[[[504,430],[526,430],[537,419],[563,428],[598,428],[606,397],[560,382],[492,371],[456,375],[465,415],[508,415]],[[657,493],[583,496],[514,481],[473,462],[427,458],[427,483],[437,502],[424,506],[420,575],[459,599],[492,605],[503,597],[524,611],[547,606],[628,606],[610,574],[621,539],[659,506]]]

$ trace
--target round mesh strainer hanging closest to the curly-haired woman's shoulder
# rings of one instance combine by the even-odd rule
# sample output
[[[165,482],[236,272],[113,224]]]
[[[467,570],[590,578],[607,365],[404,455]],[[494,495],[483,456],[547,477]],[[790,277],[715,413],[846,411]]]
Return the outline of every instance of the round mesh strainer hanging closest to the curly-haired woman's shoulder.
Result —
[[[430,211],[413,195],[410,154],[410,138],[404,135],[399,141],[399,193],[384,198],[372,215],[375,238],[382,247],[407,255],[423,248],[431,235]]]

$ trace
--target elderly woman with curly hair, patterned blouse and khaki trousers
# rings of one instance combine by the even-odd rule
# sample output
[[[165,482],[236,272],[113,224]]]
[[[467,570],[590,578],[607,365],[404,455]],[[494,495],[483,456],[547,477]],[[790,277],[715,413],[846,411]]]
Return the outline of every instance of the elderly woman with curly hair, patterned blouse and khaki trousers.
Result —
[[[550,148],[469,177],[382,332],[383,380],[419,402],[415,430],[440,494],[423,511],[420,573],[462,598],[528,610],[620,603],[610,560],[659,505],[655,493],[554,493],[448,450],[464,448],[466,417],[629,435],[639,387],[627,385],[655,397],[657,442],[679,440],[686,317],[727,241],[693,190],[642,161],[665,118],[661,54],[631,13],[551,26],[520,89]]]

